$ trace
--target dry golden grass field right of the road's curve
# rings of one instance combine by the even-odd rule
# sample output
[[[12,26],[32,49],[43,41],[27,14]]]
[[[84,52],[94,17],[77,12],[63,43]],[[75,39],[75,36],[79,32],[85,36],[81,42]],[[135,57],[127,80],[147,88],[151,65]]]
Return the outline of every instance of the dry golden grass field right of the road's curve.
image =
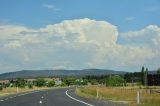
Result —
[[[160,106],[159,87],[153,87],[151,90],[139,87],[98,87],[86,86],[78,88],[76,93],[87,98],[106,99],[127,103],[129,106],[137,106],[137,91],[140,92],[140,104],[138,106]]]

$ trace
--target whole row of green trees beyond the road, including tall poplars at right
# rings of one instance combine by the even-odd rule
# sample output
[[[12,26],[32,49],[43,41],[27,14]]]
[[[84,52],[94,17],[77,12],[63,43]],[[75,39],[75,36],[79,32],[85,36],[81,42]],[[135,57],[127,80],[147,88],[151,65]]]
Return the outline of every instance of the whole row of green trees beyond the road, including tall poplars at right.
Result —
[[[157,69],[157,74],[160,75],[160,68]],[[148,68],[142,67],[141,72],[126,73],[124,75],[101,75],[94,76],[88,75],[82,78],[76,77],[64,77],[62,78],[61,86],[70,86],[70,85],[96,85],[103,84],[106,86],[127,86],[127,83],[139,83],[139,85],[147,86],[148,79]],[[33,88],[37,87],[53,87],[55,86],[55,81],[45,80],[44,78],[38,78],[34,81],[27,81],[22,78],[17,78],[16,80],[10,80],[9,83],[0,83],[0,90],[6,87],[21,87],[24,88]]]

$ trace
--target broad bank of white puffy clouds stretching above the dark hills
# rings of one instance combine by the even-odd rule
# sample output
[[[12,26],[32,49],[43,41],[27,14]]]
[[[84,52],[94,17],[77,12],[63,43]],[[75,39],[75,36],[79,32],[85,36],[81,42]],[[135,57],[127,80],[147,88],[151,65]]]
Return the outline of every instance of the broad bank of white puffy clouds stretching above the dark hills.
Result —
[[[142,65],[158,66],[155,63],[158,59],[154,59],[160,57],[160,52],[152,48],[160,43],[158,26],[118,34],[116,26],[88,18],[65,20],[39,29],[0,25],[0,66],[4,66],[1,70],[112,68],[130,71]],[[119,37],[126,43],[117,43]]]

